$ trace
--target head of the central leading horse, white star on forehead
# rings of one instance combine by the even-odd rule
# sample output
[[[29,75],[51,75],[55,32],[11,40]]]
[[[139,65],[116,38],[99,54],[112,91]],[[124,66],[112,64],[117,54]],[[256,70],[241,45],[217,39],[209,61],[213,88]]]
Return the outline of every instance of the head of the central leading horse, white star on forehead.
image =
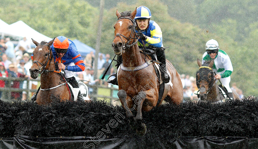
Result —
[[[122,50],[132,46],[133,39],[135,39],[135,15],[136,9],[132,13],[131,11],[125,11],[121,14],[116,10],[118,20],[114,25],[115,38],[112,43],[116,55],[121,55]]]

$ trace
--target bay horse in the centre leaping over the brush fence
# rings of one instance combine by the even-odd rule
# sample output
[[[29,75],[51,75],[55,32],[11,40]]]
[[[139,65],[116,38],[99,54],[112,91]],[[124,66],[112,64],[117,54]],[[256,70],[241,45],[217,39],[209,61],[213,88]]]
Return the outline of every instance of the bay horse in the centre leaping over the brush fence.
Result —
[[[121,14],[116,10],[118,21],[115,23],[115,38],[112,48],[116,55],[122,55],[123,63],[117,73],[119,91],[117,93],[120,102],[126,110],[129,124],[136,130],[139,136],[146,133],[146,125],[142,123],[142,111],[150,111],[154,106],[159,106],[162,101],[179,104],[183,99],[183,87],[179,74],[174,66],[166,60],[170,73],[170,81],[173,84],[168,87],[160,102],[158,102],[158,90],[160,80],[155,74],[154,63],[148,63],[151,58],[140,53],[138,37],[135,32],[134,17],[136,9],[125,11]],[[136,117],[131,110],[136,110]]]

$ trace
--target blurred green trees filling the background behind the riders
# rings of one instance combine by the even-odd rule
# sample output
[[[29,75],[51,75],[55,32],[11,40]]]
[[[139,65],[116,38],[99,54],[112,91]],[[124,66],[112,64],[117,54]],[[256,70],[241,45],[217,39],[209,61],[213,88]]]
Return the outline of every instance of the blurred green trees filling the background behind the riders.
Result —
[[[1,4],[0,19],[8,24],[22,20],[51,38],[64,35],[96,47],[99,1],[9,0]],[[170,47],[165,50],[166,57],[178,73],[195,76],[205,43],[215,39],[232,61],[231,82],[236,82],[244,95],[258,95],[257,1],[105,0],[100,52],[114,54],[111,43],[116,9],[123,12],[142,5],[151,10],[151,20],[161,27],[163,45]]]

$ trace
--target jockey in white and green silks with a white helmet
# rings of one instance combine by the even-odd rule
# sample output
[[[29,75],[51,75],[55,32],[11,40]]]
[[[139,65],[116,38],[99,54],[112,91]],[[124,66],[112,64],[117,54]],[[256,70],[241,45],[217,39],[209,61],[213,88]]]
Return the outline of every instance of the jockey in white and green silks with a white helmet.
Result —
[[[225,51],[219,50],[219,44],[214,39],[206,43],[206,52],[202,56],[202,64],[212,59],[214,59],[212,69],[216,73],[215,79],[221,81],[221,84],[228,90],[230,98],[233,98],[232,90],[229,87],[233,66],[229,55]]]

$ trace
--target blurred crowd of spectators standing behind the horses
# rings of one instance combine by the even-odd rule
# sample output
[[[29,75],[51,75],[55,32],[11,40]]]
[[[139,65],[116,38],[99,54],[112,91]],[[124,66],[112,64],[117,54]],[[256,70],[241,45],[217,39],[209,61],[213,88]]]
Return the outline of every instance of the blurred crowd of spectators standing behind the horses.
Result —
[[[0,77],[18,77],[18,78],[30,78],[29,69],[32,66],[32,60],[30,55],[32,54],[33,47],[31,47],[31,43],[29,40],[24,37],[20,40],[17,46],[10,41],[10,38],[0,39]],[[93,66],[94,63],[98,60],[97,65],[97,79],[94,79],[94,70]],[[115,87],[118,88],[116,85],[108,84],[107,78],[111,74],[115,73],[114,68],[110,67],[104,80],[102,80],[102,76],[105,70],[111,63],[110,55],[109,54],[102,54],[98,55],[98,58],[95,58],[95,54],[90,52],[84,58],[85,63],[85,70],[83,72],[74,72],[76,76],[76,80],[83,81],[86,85],[103,85],[106,87]],[[196,79],[193,76],[181,74],[181,81],[183,85],[183,96],[184,100],[190,99],[191,101],[198,100],[197,98],[197,91],[198,88],[196,86]],[[6,81],[0,80],[0,88],[4,88],[6,86]],[[22,88],[22,89],[37,89],[39,86],[37,81],[29,81],[29,87],[27,87],[27,81],[12,81],[11,87],[12,88]],[[236,84],[232,84],[232,89],[235,90],[239,95],[240,98],[243,97],[242,90],[236,87]],[[93,92],[92,88],[89,88],[89,94]],[[2,96],[2,92],[0,91],[0,98]],[[32,96],[31,93],[29,96]],[[12,99],[27,99],[27,92],[12,92],[11,97]]]

